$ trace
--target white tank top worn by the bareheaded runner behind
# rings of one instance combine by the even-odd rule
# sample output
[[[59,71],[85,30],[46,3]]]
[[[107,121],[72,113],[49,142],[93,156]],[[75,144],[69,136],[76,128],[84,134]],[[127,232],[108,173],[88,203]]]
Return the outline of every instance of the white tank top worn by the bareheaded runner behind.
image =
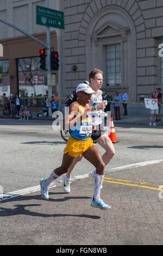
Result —
[[[103,101],[101,90],[97,90],[99,95],[92,94],[92,100],[89,103],[90,106],[96,106]],[[96,109],[92,111],[92,123],[99,125],[102,123],[102,109]]]

